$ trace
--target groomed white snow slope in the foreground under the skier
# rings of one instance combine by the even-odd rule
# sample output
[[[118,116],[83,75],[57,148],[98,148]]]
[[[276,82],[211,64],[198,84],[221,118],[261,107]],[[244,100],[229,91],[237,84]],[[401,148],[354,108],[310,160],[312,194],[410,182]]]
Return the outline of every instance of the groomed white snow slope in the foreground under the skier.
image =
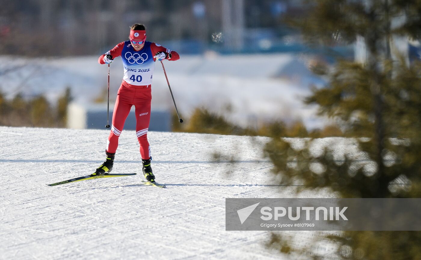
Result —
[[[141,185],[136,134],[123,131],[113,172],[138,175],[45,185],[93,172],[108,134],[0,127],[0,259],[283,258],[264,247],[269,231],[225,231],[225,198],[296,197],[274,185],[269,138],[149,132],[161,189]]]

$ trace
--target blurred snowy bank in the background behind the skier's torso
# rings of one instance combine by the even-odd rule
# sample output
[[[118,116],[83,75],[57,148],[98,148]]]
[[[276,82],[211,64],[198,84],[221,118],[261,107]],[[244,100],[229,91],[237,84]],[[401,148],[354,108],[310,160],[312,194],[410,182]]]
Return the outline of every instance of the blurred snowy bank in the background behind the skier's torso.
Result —
[[[305,106],[309,86],[322,85],[308,69],[311,57],[290,53],[253,55],[181,55],[179,61],[164,61],[165,70],[182,117],[197,107],[224,114],[237,124],[255,126],[273,119],[303,120],[307,127],[321,127],[325,120]],[[15,68],[15,69],[11,69]],[[107,88],[107,66],[97,56],[72,58],[17,58],[0,56],[0,90],[8,98],[44,94],[53,103],[72,89],[75,102],[92,101]],[[114,101],[123,76],[120,58],[111,64],[111,97]],[[229,107],[229,109],[227,109]],[[161,64],[155,64],[152,109],[173,111],[173,101]]]

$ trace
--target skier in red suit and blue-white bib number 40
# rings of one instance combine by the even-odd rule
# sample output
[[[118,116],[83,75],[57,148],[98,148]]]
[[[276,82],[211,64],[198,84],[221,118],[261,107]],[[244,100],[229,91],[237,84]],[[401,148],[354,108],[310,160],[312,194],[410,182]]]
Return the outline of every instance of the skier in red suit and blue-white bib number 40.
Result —
[[[107,149],[105,150],[107,159],[92,175],[104,175],[111,172],[118,146],[118,137],[123,131],[124,122],[131,107],[135,106],[136,136],[140,144],[143,174],[148,181],[154,182],[151,149],[147,138],[151,116],[152,74],[156,60],[176,61],[180,56],[175,51],[164,48],[155,42],[145,41],[146,28],[143,24],[134,24],[131,27],[129,39],[117,44],[112,50],[101,55],[98,60],[100,64],[110,64],[114,58],[121,56],[124,76],[117,92],[117,100],[112,113],[111,133],[108,136]]]

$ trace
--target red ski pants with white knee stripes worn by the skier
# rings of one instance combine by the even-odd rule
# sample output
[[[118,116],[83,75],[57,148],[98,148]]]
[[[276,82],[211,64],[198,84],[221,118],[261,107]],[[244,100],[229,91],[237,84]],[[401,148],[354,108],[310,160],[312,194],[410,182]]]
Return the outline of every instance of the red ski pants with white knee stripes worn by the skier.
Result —
[[[140,144],[142,159],[151,157],[151,149],[147,138],[149,119],[151,117],[151,85],[133,86],[123,81],[117,92],[114,112],[112,113],[111,133],[108,137],[107,152],[115,153],[118,146],[118,138],[123,131],[124,122],[132,106],[135,106],[136,136]]]

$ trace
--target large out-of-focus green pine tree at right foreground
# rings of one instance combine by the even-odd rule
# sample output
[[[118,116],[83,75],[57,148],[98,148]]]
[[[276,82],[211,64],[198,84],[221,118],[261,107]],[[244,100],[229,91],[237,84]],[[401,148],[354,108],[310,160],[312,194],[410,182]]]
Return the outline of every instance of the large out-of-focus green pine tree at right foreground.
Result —
[[[329,82],[325,88],[313,89],[306,103],[317,104],[320,115],[337,119],[345,135],[355,138],[367,163],[363,165],[348,154],[343,163],[337,163],[329,147],[314,156],[312,140],[296,150],[287,141],[273,139],[265,151],[274,163],[274,172],[282,174],[282,184],[298,181],[304,184],[301,188],[328,188],[344,198],[420,197],[421,63],[408,64],[404,55],[397,53],[393,39],[395,35],[421,37],[421,2],[317,0],[308,6],[305,18],[292,24],[310,44],[353,43],[360,38],[366,46],[364,63],[343,60],[331,70],[319,68]],[[398,16],[405,21],[396,23]],[[296,167],[291,167],[292,159]],[[314,171],[314,163],[322,165],[322,172]],[[328,239],[338,245],[342,259],[421,258],[420,232],[347,231]],[[277,234],[269,245],[308,256],[307,251],[294,249],[290,240]],[[351,252],[344,253],[344,247]]]

